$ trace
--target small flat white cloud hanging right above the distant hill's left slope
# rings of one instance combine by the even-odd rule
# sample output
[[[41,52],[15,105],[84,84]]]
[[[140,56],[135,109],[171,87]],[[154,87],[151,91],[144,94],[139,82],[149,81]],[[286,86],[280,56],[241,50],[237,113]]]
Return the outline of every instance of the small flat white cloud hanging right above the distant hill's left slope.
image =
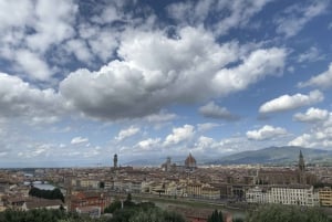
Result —
[[[287,135],[287,130],[284,128],[273,127],[269,125],[266,125],[258,130],[247,131],[247,138],[252,140],[274,139],[284,135]]]

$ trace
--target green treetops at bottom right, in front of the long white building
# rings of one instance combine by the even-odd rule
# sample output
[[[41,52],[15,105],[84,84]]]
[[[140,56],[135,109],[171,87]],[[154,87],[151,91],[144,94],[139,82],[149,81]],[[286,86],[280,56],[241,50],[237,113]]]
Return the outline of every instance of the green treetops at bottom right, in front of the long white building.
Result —
[[[317,208],[271,204],[258,208],[248,215],[247,222],[330,222]]]

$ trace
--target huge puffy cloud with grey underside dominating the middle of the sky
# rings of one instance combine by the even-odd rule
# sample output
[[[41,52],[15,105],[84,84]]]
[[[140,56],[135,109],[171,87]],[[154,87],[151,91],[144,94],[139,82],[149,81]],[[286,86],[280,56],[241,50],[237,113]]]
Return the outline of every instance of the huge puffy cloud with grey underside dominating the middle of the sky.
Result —
[[[131,38],[118,49],[122,61],[112,61],[97,72],[82,68],[71,73],[60,83],[60,93],[86,116],[136,118],[170,104],[242,91],[283,68],[283,49],[253,51],[239,66],[225,68],[239,60],[237,43],[220,45],[211,33],[194,28],[181,29],[178,35],[128,33]]]

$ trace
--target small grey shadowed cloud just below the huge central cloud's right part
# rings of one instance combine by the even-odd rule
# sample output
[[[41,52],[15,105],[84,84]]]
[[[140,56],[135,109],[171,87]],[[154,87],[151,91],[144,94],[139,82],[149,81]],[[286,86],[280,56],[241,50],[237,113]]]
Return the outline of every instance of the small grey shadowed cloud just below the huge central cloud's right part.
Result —
[[[210,102],[201,107],[199,107],[199,113],[209,118],[220,118],[226,120],[237,119],[235,115],[232,115],[227,108],[220,107],[215,102]]]

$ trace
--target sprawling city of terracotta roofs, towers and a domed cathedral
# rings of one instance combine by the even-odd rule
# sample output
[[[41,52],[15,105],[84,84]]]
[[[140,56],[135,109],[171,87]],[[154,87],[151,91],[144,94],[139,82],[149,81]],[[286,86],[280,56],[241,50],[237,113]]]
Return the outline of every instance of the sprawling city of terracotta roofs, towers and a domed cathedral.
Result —
[[[115,154],[110,167],[2,169],[0,211],[61,207],[100,218],[112,202],[125,201],[131,193],[134,201],[153,201],[191,222],[208,221],[214,208],[221,209],[226,221],[243,219],[264,204],[321,208],[332,214],[332,167],[308,167],[302,150],[292,167],[199,166],[191,154],[178,165],[167,157],[158,167],[122,167],[120,158]],[[32,188],[60,188],[63,201],[31,197]],[[204,207],[193,211],[188,202]]]

